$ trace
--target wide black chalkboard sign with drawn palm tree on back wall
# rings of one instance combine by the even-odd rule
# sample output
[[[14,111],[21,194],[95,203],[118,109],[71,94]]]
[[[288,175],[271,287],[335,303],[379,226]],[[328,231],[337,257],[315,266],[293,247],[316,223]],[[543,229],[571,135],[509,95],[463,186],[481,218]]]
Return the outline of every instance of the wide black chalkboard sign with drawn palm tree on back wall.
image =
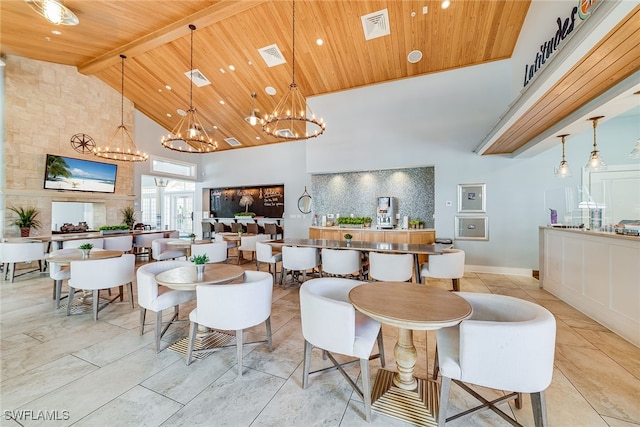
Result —
[[[284,184],[212,188],[209,193],[212,217],[233,218],[238,212],[247,211],[268,218],[284,215]]]

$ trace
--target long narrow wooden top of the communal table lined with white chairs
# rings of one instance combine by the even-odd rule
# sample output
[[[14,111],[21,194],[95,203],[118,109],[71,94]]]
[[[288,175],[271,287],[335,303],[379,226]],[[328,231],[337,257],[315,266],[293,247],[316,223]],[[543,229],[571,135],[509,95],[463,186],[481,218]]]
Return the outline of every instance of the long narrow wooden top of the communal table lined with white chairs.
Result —
[[[274,247],[282,246],[301,246],[311,248],[328,248],[328,249],[354,249],[357,251],[370,251],[370,252],[390,252],[401,254],[427,254],[438,255],[442,253],[444,248],[448,248],[448,245],[440,244],[417,244],[417,243],[385,243],[385,242],[364,242],[360,240],[353,240],[350,244],[347,244],[345,240],[325,240],[325,239],[279,239],[267,241]]]

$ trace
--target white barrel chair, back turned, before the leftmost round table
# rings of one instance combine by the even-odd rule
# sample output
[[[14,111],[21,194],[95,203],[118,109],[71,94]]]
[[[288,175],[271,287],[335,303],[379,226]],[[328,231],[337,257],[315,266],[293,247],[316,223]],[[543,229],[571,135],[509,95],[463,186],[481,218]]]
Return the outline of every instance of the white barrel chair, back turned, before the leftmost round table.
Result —
[[[133,280],[135,276],[136,257],[124,254],[116,258],[71,261],[71,277],[69,278],[69,299],[67,316],[71,314],[71,304],[76,289],[93,291],[93,320],[98,320],[98,312],[116,299],[123,300],[123,288],[129,294],[129,302],[133,309]],[[118,295],[100,305],[100,290],[119,287]]]

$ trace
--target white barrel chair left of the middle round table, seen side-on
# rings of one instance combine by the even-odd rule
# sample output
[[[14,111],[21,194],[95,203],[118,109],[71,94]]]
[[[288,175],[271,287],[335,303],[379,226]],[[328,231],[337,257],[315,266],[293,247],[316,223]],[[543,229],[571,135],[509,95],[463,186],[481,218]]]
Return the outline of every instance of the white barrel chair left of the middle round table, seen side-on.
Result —
[[[191,267],[189,261],[158,261],[141,265],[136,272],[138,288],[138,305],[140,306],[140,335],[144,334],[147,310],[153,311],[155,316],[155,345],[156,353],[160,352],[160,344],[169,326],[176,323],[179,317],[179,306],[196,298],[195,290],[175,290],[159,286],[156,274],[179,267]],[[162,322],[162,311],[173,307],[173,316],[168,322]],[[164,328],[162,327],[163,325]]]

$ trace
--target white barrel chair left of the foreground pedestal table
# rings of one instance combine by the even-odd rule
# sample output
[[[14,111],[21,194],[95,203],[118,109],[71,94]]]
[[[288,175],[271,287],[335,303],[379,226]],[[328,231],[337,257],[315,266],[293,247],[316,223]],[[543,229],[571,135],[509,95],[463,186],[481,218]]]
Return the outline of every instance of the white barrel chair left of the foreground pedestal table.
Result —
[[[302,388],[309,385],[309,376],[330,369],[338,369],[353,390],[364,401],[365,419],[371,421],[371,381],[369,360],[380,358],[385,366],[384,343],[380,323],[357,311],[349,302],[349,292],[365,282],[343,278],[319,278],[306,281],[300,286],[300,319],[304,336],[304,362]],[[375,343],[378,354],[372,356]],[[316,347],[323,351],[323,359],[331,360],[333,366],[310,372],[311,351]],[[362,390],[356,381],[338,363],[332,353],[356,357],[360,362]]]

